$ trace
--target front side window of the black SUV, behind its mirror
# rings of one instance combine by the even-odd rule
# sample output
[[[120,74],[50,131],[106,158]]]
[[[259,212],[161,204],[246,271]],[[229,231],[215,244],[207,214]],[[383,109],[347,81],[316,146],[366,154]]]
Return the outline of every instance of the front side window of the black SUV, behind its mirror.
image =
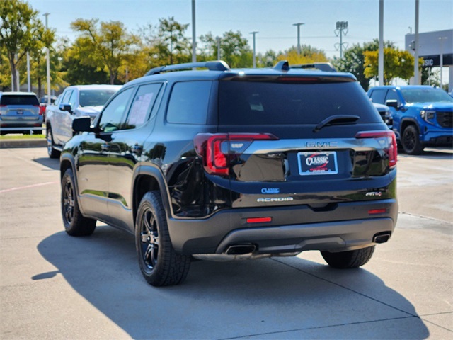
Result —
[[[120,128],[122,116],[126,111],[127,104],[134,92],[133,90],[131,88],[122,91],[104,108],[104,111],[101,113],[101,119],[99,120],[99,128],[103,132],[113,132]]]

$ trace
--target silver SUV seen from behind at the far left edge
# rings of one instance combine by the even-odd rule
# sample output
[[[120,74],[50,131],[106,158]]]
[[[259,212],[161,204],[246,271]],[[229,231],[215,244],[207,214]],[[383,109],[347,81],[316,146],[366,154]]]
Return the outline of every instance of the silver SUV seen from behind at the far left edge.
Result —
[[[42,133],[40,103],[33,92],[0,92],[0,133]]]

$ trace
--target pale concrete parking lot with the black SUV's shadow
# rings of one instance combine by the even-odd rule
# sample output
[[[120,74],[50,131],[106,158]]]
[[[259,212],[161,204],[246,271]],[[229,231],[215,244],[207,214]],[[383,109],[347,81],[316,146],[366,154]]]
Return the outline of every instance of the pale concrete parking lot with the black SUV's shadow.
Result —
[[[131,235],[63,231],[45,148],[0,149],[0,339],[453,339],[452,156],[398,157],[396,232],[362,268],[197,261],[153,288]]]

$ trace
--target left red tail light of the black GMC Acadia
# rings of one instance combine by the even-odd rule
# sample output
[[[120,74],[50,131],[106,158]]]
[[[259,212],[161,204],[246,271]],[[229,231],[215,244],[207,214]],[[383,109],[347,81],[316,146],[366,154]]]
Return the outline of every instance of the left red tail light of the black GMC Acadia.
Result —
[[[193,139],[208,174],[228,175],[234,157],[242,154],[254,140],[278,140],[270,133],[199,133]]]

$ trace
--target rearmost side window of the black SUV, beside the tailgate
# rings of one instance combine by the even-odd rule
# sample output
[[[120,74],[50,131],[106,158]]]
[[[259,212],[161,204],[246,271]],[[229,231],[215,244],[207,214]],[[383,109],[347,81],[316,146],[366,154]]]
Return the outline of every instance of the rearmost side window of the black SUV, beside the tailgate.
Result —
[[[168,123],[206,124],[212,81],[176,83],[168,103]]]

